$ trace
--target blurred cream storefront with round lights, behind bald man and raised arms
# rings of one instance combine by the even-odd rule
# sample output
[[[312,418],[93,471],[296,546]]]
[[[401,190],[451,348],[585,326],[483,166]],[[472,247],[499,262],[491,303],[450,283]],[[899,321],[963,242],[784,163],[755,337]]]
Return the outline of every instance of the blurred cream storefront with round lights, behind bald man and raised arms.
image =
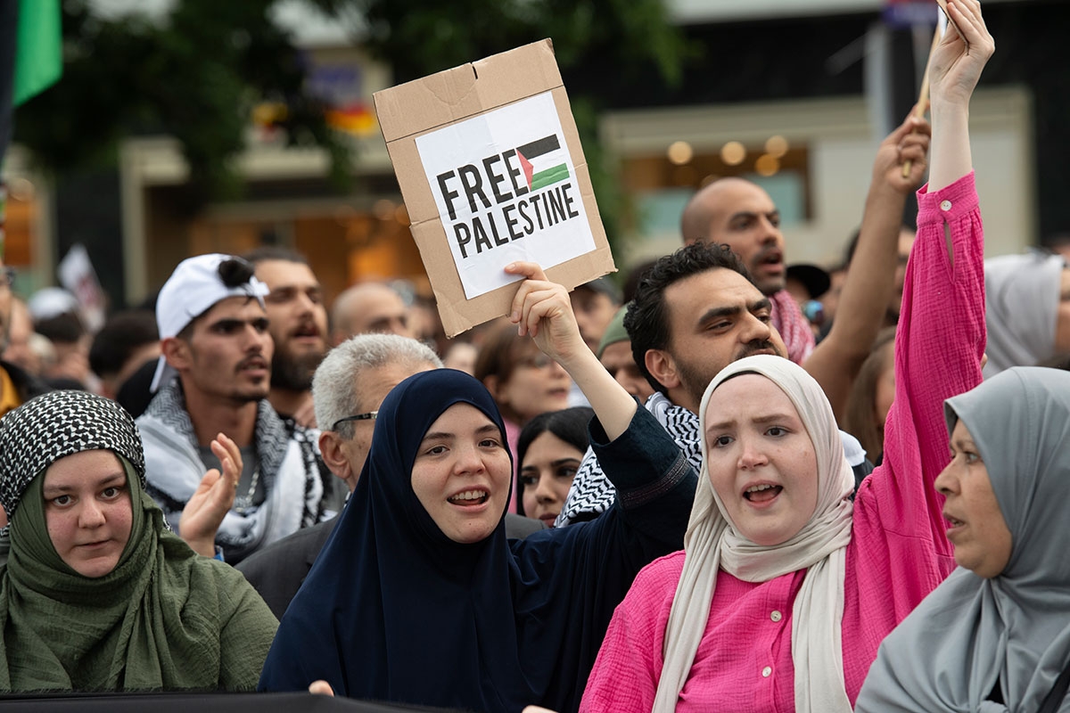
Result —
[[[1018,251],[1036,235],[1033,121],[1025,88],[974,97],[970,136],[988,254]],[[618,266],[678,248],[688,199],[730,175],[773,197],[790,261],[831,265],[861,221],[883,138],[863,97],[613,111],[601,136],[635,205]]]

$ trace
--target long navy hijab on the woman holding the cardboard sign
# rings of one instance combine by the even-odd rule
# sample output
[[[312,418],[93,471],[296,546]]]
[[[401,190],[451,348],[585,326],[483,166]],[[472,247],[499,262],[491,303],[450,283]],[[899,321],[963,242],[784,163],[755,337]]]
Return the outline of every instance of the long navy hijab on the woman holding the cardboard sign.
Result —
[[[336,695],[419,706],[519,711],[545,700],[568,623],[564,615],[556,624],[535,621],[551,603],[545,587],[537,594],[526,586],[567,589],[553,572],[568,579],[572,562],[541,572],[548,580],[521,574],[504,512],[482,542],[453,542],[411,486],[424,434],[459,403],[486,414],[504,437],[492,398],[463,372],[419,373],[387,396],[356,490],[282,618],[262,691],[304,691],[324,679]],[[551,540],[561,538],[545,544]],[[522,665],[533,658],[525,652],[538,663]]]

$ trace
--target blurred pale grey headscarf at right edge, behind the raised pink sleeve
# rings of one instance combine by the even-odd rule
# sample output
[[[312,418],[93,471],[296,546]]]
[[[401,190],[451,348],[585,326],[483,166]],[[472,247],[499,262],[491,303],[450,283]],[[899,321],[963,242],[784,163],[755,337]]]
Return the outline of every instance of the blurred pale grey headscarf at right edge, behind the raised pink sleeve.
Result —
[[[1045,252],[984,261],[989,327],[984,378],[1031,367],[1055,355],[1055,322],[1065,261]]]

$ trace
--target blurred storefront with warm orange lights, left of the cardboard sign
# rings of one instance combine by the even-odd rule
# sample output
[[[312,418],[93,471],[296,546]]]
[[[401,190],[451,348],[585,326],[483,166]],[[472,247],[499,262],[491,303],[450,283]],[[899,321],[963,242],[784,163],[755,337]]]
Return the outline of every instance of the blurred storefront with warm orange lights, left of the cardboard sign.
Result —
[[[245,195],[238,201],[192,211],[177,143],[126,141],[120,181],[127,301],[151,297],[187,255],[261,245],[307,255],[328,300],[366,278],[403,278],[429,292],[372,109],[371,94],[389,86],[388,72],[356,49],[311,49],[308,59],[315,92],[333,107],[328,122],[354,148],[354,189],[339,196],[327,184],[324,152],[282,145],[270,128],[278,110],[271,105],[254,112],[249,149],[239,161]]]

